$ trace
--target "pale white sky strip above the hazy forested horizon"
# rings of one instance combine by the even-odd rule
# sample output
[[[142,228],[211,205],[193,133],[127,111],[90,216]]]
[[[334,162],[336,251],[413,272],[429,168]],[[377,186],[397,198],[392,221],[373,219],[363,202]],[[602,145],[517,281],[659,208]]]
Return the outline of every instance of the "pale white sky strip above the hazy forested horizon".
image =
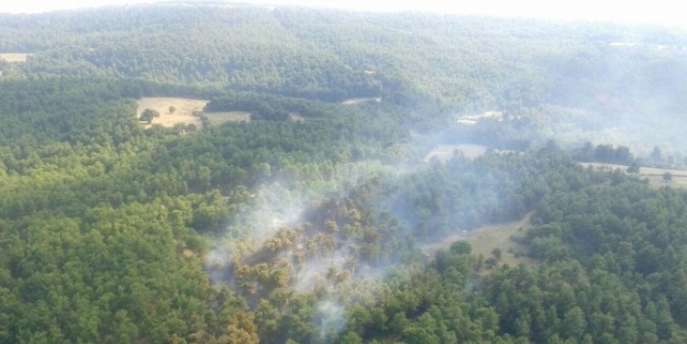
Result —
[[[55,10],[86,9],[102,5],[122,5],[141,3],[171,3],[175,1],[155,0],[70,0],[47,3],[45,1],[12,1],[0,4],[0,12],[36,13]],[[178,1],[193,3],[193,1]],[[221,1],[215,1],[221,2]],[[224,1],[229,3],[228,1]],[[237,1],[234,1],[237,3]],[[195,1],[195,3],[201,3]],[[208,3],[207,1],[204,3]],[[490,16],[525,16],[550,18],[563,20],[618,21],[632,23],[653,23],[662,25],[683,25],[679,5],[674,1],[345,1],[332,2],[322,0],[252,0],[242,3],[270,5],[299,5],[311,8],[336,8],[363,11],[421,11],[434,13],[454,13]]]

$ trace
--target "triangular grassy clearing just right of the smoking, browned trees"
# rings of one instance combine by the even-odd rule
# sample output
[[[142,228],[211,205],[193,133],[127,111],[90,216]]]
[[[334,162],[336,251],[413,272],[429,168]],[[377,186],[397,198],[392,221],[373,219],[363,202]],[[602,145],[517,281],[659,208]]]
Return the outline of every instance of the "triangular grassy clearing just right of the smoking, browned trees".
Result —
[[[492,224],[481,226],[472,231],[463,231],[454,235],[447,236],[439,243],[432,243],[424,245],[422,249],[434,256],[439,249],[447,249],[451,244],[457,241],[465,241],[473,247],[474,255],[483,255],[485,258],[491,256],[494,248],[501,249],[501,263],[510,266],[517,266],[522,263],[525,265],[534,265],[536,260],[527,256],[529,253],[528,247],[516,243],[511,240],[513,236],[524,234],[532,220],[534,212],[528,213],[519,221]],[[519,257],[516,257],[516,253],[519,253]]]

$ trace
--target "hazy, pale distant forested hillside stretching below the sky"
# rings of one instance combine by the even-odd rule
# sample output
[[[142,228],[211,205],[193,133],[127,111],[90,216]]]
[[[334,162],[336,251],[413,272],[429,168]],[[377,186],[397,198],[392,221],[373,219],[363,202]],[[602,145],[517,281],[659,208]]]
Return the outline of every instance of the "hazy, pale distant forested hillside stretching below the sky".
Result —
[[[550,134],[573,130],[568,143],[684,144],[674,129],[687,42],[675,29],[185,3],[5,14],[0,25],[0,52],[33,54],[2,67],[23,74],[381,97],[454,115],[509,111]]]

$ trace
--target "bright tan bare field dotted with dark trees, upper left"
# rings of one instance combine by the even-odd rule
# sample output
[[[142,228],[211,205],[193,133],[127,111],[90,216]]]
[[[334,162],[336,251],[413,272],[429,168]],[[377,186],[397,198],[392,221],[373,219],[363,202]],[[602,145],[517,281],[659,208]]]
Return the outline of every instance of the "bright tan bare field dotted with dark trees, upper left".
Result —
[[[149,97],[138,99],[136,103],[138,104],[136,119],[141,116],[141,113],[143,113],[145,109],[151,109],[159,112],[159,116],[153,119],[151,124],[159,124],[166,127],[173,127],[180,123],[195,124],[200,129],[202,127],[202,123],[193,113],[202,112],[202,109],[208,103],[208,100]],[[174,111],[170,111],[170,107],[174,107]]]

